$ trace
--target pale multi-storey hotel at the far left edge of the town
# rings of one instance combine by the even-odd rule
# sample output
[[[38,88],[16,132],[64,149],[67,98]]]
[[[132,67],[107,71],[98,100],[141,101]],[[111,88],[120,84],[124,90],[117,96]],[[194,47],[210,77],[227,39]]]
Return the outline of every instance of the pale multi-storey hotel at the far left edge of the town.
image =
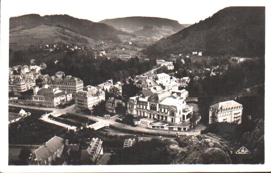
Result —
[[[19,94],[21,92],[32,89],[36,85],[34,79],[16,75],[8,80],[8,92]]]

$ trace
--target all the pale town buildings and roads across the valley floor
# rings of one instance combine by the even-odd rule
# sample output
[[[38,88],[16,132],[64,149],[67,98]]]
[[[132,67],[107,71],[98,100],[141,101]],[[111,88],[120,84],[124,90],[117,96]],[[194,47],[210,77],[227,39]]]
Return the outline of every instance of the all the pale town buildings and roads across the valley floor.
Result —
[[[184,58],[188,58],[187,56]],[[201,56],[201,53],[197,56]],[[181,62],[185,63],[183,59]],[[39,120],[67,130],[78,131],[84,128],[99,130],[114,127],[121,131],[126,129],[137,133],[137,139],[127,138],[123,141],[124,148],[132,146],[142,138],[145,139],[144,133],[153,136],[147,137],[149,140],[157,138],[155,137],[157,134],[171,138],[174,135],[198,135],[201,130],[206,129],[206,125],[200,123],[198,97],[190,97],[191,93],[186,89],[191,87],[191,81],[195,83],[204,80],[205,77],[177,78],[174,74],[178,72],[174,73],[173,63],[175,64],[174,61],[157,60],[157,67],[135,76],[134,79],[129,77],[115,83],[108,79],[97,86],[84,86],[84,82],[79,78],[66,76],[61,71],[56,72],[54,76],[42,75],[41,70],[46,69],[47,65],[45,63],[37,65],[36,60],[31,59],[30,65],[9,68],[9,109],[19,111],[17,108],[20,108],[19,112],[9,113],[9,126],[11,128],[12,124],[31,116],[31,111],[26,112],[24,109],[33,109],[46,111]],[[214,69],[216,73],[213,72]],[[223,68],[221,71],[218,71],[217,67],[214,69],[207,70],[212,73],[205,74],[212,76],[225,73]],[[158,73],[162,70],[169,73]],[[125,85],[133,85],[138,89],[138,92],[128,100],[123,95],[122,87]],[[125,89],[124,87],[124,93]],[[205,110],[209,112],[209,124],[242,123],[243,106],[235,101],[236,96],[233,98],[217,102]],[[54,136],[30,153],[28,163],[30,165],[103,163],[105,158],[103,141],[100,138],[93,138],[86,142],[88,143],[88,148],[84,150],[80,144],[69,144],[68,139]],[[44,153],[43,148],[47,147],[48,153]],[[83,154],[84,151],[86,154]]]

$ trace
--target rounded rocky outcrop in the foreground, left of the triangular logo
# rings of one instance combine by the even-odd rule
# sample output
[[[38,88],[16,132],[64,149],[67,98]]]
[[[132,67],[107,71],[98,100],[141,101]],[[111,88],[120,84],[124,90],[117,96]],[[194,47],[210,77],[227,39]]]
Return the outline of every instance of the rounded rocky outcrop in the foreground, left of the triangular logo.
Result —
[[[215,134],[180,136],[176,139],[182,148],[172,164],[231,164],[231,149]]]

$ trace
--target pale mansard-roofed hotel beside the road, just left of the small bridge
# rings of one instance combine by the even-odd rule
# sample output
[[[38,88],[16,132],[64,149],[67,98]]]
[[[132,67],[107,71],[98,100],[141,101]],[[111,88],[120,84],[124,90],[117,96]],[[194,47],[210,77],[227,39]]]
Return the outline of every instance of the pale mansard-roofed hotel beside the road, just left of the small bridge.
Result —
[[[106,99],[105,95],[105,91],[99,87],[86,86],[75,94],[75,109],[77,111],[92,110],[94,105]]]

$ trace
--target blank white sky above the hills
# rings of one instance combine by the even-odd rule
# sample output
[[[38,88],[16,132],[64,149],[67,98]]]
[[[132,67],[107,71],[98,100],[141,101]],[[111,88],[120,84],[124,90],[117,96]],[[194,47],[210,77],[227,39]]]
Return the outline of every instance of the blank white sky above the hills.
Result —
[[[194,24],[228,6],[261,6],[267,0],[8,0],[8,15],[68,14],[99,22],[103,19],[151,16]]]

